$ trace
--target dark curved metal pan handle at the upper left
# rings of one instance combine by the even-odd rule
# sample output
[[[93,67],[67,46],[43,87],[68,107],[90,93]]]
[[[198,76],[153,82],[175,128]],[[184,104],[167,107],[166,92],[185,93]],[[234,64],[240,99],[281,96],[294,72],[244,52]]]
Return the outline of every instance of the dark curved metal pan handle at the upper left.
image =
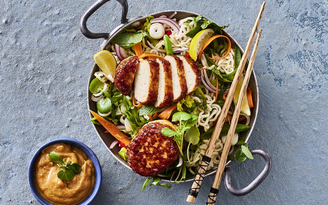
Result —
[[[81,20],[80,20],[80,29],[81,29],[82,34],[85,35],[85,37],[91,38],[91,39],[96,39],[96,38],[107,39],[109,37],[109,33],[92,33],[87,28],[87,20],[89,19],[89,17],[108,1],[110,1],[110,0],[97,0],[82,15]],[[116,1],[118,1],[122,5],[121,24],[126,24],[128,22],[128,19],[126,18],[127,14],[128,14],[128,2],[126,0],[116,0]]]

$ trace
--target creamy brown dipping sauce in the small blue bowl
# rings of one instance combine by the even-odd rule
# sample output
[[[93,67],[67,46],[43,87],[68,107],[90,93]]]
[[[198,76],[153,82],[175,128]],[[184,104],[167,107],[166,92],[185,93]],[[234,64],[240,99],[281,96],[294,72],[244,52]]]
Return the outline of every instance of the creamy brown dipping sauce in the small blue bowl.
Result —
[[[64,162],[71,160],[72,163],[78,163],[81,172],[69,181],[59,179],[57,173],[61,169],[48,158],[51,151],[56,152]],[[81,150],[65,143],[56,143],[42,150],[35,165],[34,177],[38,192],[50,203],[79,204],[92,192],[95,169],[91,160]]]

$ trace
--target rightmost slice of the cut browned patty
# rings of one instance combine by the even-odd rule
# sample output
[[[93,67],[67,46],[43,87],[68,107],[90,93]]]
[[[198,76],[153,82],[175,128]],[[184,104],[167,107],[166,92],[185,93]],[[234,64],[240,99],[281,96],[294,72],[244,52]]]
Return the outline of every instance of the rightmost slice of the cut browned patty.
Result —
[[[199,66],[194,60],[187,58],[184,55],[177,55],[182,60],[184,73],[187,82],[186,95],[190,95],[197,88],[198,83],[201,81],[201,72]]]

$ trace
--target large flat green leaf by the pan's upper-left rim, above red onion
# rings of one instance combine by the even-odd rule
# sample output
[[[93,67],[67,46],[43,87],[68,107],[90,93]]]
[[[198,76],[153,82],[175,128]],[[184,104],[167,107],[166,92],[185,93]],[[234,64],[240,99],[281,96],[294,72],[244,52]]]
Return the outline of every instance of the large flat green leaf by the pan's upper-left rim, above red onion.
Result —
[[[120,47],[126,49],[141,42],[143,38],[144,34],[142,32],[120,33],[112,40],[112,44],[117,44]]]

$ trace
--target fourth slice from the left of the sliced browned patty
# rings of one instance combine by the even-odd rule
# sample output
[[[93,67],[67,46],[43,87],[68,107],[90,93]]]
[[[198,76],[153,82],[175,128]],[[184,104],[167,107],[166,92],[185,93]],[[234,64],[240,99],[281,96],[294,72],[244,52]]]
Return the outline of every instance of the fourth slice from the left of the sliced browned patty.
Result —
[[[187,92],[186,77],[184,74],[183,62],[175,55],[164,57],[171,64],[173,102],[177,102],[185,97]]]

